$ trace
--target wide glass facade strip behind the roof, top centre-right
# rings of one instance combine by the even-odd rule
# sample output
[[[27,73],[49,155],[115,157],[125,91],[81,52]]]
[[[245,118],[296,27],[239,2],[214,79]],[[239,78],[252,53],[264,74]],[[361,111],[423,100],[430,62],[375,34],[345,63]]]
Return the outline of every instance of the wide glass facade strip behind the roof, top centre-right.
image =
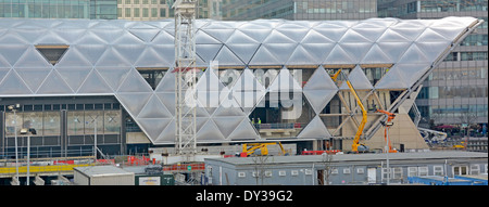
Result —
[[[377,16],[377,0],[223,0],[223,20],[366,20]]]

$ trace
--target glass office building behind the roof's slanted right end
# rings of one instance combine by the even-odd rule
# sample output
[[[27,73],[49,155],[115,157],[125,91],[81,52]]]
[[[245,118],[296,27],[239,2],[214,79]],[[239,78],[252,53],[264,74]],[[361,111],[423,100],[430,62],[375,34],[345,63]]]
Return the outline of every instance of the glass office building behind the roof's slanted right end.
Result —
[[[421,125],[475,125],[488,122],[488,1],[380,0],[379,17],[431,20],[474,16],[484,20],[476,33],[424,82],[417,98]]]

